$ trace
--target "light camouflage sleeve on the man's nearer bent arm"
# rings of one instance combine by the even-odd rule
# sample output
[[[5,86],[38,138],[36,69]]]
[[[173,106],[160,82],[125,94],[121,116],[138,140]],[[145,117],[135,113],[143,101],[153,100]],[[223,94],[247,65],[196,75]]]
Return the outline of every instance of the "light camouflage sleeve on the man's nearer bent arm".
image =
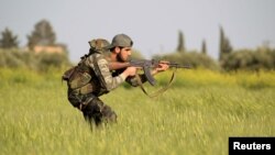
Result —
[[[116,89],[124,81],[124,77],[121,75],[112,77],[108,66],[108,60],[100,54],[89,56],[87,58],[87,65],[94,69],[101,87],[103,87],[107,91]]]

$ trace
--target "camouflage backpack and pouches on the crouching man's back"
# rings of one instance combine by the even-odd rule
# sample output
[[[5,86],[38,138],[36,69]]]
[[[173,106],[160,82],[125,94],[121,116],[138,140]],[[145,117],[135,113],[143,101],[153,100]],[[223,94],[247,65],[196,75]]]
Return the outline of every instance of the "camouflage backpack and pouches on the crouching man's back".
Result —
[[[79,92],[84,95],[92,91],[90,84],[92,79],[91,68],[86,66],[84,62],[91,54],[107,52],[108,49],[106,47],[110,45],[110,43],[103,38],[92,40],[88,43],[90,45],[89,54],[84,55],[77,66],[69,68],[62,76],[62,79],[67,81],[68,89],[79,89]]]

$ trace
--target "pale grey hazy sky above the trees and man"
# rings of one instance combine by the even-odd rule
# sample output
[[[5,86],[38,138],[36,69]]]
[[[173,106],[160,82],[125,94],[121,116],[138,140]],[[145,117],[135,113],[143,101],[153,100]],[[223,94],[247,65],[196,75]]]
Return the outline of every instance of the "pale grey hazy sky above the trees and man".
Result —
[[[188,51],[218,58],[223,27],[234,49],[275,47],[275,0],[0,0],[0,32],[18,35],[20,46],[34,25],[47,20],[66,44],[72,62],[88,53],[88,41],[124,33],[146,58],[175,52],[178,32]]]

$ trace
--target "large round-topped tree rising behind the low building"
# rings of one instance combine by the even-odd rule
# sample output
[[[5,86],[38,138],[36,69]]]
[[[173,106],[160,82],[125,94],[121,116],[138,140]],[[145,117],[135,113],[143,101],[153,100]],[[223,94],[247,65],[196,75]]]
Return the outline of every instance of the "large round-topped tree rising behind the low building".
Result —
[[[56,35],[51,23],[42,20],[35,24],[32,34],[28,35],[28,46],[32,49],[35,45],[54,45]]]

